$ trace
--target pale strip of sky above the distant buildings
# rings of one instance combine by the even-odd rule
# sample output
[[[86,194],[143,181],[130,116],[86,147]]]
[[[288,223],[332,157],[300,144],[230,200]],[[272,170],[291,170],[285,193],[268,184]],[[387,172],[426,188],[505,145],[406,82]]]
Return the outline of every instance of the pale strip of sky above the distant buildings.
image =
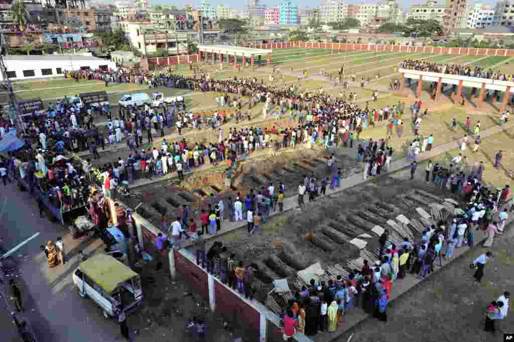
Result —
[[[177,5],[179,8],[180,7],[183,7],[185,4],[192,4],[194,5],[195,7],[199,7],[200,6],[200,0],[195,0],[195,1],[188,1],[188,0],[149,0],[150,1],[150,5],[152,4],[174,4],[174,5]],[[384,0],[385,1],[385,0]],[[443,3],[445,0],[440,0],[439,2],[440,3]],[[376,3],[376,0],[346,0],[345,1],[347,4],[362,4],[362,3],[365,3],[365,4],[373,4],[373,3]],[[425,4],[427,1],[426,0],[398,0],[398,3],[400,5],[401,8],[409,8],[410,5],[416,5],[416,4]],[[224,4],[224,5],[227,5],[229,7],[233,7],[233,8],[244,8],[244,7],[247,7],[248,5],[248,1],[247,0],[210,0],[210,3],[211,5],[213,5],[214,7],[216,7],[218,4]],[[278,7],[279,4],[280,4],[280,0],[261,0],[260,3],[264,4],[264,5],[268,5],[270,7]],[[309,1],[309,0],[297,0],[297,3],[299,5],[299,7],[301,8],[316,8],[316,7],[319,7],[322,3],[322,0],[314,0],[314,1]],[[475,0],[475,3],[483,3],[483,4],[490,4],[491,7],[494,7],[494,5],[496,4],[496,1],[493,1],[493,0],[484,0],[484,1],[480,1],[480,0]]]

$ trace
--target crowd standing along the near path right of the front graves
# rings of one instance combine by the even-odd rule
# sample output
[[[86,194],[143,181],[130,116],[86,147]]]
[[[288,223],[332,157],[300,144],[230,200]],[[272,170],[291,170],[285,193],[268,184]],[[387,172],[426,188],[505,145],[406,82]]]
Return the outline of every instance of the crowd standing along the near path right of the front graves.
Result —
[[[437,177],[434,172],[433,178]],[[396,281],[408,274],[418,279],[426,278],[435,267],[443,265],[442,259],[452,259],[455,249],[472,248],[476,230],[486,233],[484,246],[491,248],[494,235],[503,232],[512,211],[512,208],[510,212],[509,208],[502,208],[510,197],[509,186],[501,192],[490,191],[478,178],[470,175],[458,195],[468,204],[450,213],[446,219],[427,225],[414,240],[405,237],[400,245],[396,245],[389,240],[389,232],[385,230],[379,238],[379,260],[374,264],[364,260],[363,267],[351,270],[347,278],[337,276],[328,282],[313,279],[310,286],[302,287],[284,309],[284,339],[291,338],[296,332],[308,336],[323,331],[334,332],[344,324],[344,315],[355,307],[387,321],[387,305]],[[498,218],[493,219],[496,212]],[[482,281],[491,257],[493,253],[487,251],[471,264],[476,282]],[[506,317],[509,296],[505,292],[488,306],[486,331],[494,332],[494,322]]]

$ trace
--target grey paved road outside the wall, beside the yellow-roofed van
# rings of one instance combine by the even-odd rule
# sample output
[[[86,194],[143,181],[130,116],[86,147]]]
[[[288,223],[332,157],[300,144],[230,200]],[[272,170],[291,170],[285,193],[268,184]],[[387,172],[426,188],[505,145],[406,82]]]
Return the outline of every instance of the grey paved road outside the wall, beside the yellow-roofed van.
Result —
[[[15,259],[19,261],[23,277],[21,285],[26,314],[39,340],[119,340],[119,326],[114,321],[106,320],[100,308],[90,299],[80,297],[71,279],[71,273],[77,267],[77,258],[73,256],[77,250],[91,252],[101,248],[101,242],[71,240],[65,227],[39,218],[36,203],[29,194],[21,193],[13,184],[3,187],[0,194],[0,237],[3,245],[9,248],[35,232],[40,232],[41,235],[16,252]],[[65,265],[49,269],[39,246],[45,241],[55,240],[58,236],[63,237],[71,260]],[[26,257],[19,257],[19,254]],[[4,307],[0,306],[2,324],[8,322]],[[3,337],[0,339],[3,340]]]

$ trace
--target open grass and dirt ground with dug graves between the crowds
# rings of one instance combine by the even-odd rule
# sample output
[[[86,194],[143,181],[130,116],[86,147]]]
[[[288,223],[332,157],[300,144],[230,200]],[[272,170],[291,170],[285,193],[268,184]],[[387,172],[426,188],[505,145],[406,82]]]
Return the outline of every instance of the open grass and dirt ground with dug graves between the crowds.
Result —
[[[398,101],[400,103],[407,102],[405,103],[405,112],[402,118],[405,122],[403,135],[398,137],[394,134],[391,140],[391,144],[395,149],[395,158],[398,159],[403,156],[407,141],[414,137],[409,120],[408,106],[410,100],[393,96],[389,91],[388,85],[391,79],[399,77],[396,72],[398,64],[406,58],[424,59],[438,63],[468,64],[471,67],[478,65],[487,68],[491,67],[495,70],[502,70],[507,73],[514,73],[514,67],[510,64],[511,60],[501,57],[484,58],[483,56],[431,55],[428,53],[377,54],[366,51],[346,51],[332,54],[329,50],[305,49],[275,50],[272,56],[272,63],[280,66],[283,78],[281,78],[279,74],[275,74],[275,80],[272,82],[269,81],[269,74],[271,73],[271,67],[269,66],[260,66],[252,70],[242,69],[241,72],[233,69],[231,66],[225,66],[224,71],[218,73],[215,71],[215,68],[218,67],[217,65],[203,65],[202,67],[207,72],[210,72],[211,77],[217,79],[256,77],[258,80],[262,80],[263,83],[271,83],[277,87],[296,85],[299,87],[299,91],[319,91],[320,88],[323,88],[323,91],[330,93],[332,96],[339,96],[342,91],[344,91],[346,95],[350,92],[357,92],[357,101],[362,106],[365,106],[365,101],[371,100],[372,90],[378,89],[379,99],[377,102],[370,101],[370,108],[394,105],[398,103]],[[320,74],[323,68],[325,72],[337,74],[337,71],[343,64],[345,65],[346,76],[348,77],[355,74],[357,79],[357,82],[351,83],[348,89],[334,87],[333,83],[329,82],[326,76]],[[299,81],[298,77],[302,74],[304,69],[309,72],[309,76]],[[192,72],[185,68],[179,69],[178,73],[193,75]],[[366,80],[364,88],[360,87],[361,78]],[[370,82],[367,82],[368,78]],[[149,93],[161,91],[164,92],[166,96],[177,94],[186,96],[188,99],[188,109],[192,111],[208,113],[216,110],[214,101],[215,93],[199,93],[169,88],[145,89],[145,87],[142,86],[127,84],[112,85],[105,88],[104,84],[99,82],[81,81],[80,83],[75,83],[69,80],[50,82],[34,81],[15,83],[14,85],[16,91],[18,91],[16,96],[22,99],[41,97],[47,99],[46,101],[54,101],[49,99],[62,98],[65,94],[70,96],[81,92],[105,90],[109,93],[109,99],[113,105],[116,104],[119,97],[124,92],[144,90]],[[424,83],[424,89],[428,88],[429,83]],[[448,95],[448,92],[446,95]],[[244,99],[244,101],[246,100],[247,99]],[[499,113],[493,106],[486,106],[486,109],[482,112],[467,112],[466,108],[455,106],[447,99],[435,104],[429,100],[427,92],[424,92],[422,100],[424,102],[424,108],[429,108],[429,116],[424,119],[420,132],[421,135],[433,134],[435,137],[435,145],[454,141],[455,147],[457,147],[458,139],[461,139],[466,133],[463,124],[466,117],[471,118],[472,125],[475,125],[480,120],[484,129],[498,125]],[[284,128],[296,125],[295,122],[289,121],[286,117],[281,118],[279,121],[271,121],[270,118],[265,120],[262,118],[261,113],[262,105],[256,106],[251,111],[251,122],[240,124],[229,122],[229,124],[223,126],[224,134],[228,134],[229,127],[272,127],[275,125]],[[457,131],[450,129],[450,122],[453,118],[456,118],[460,123]],[[106,121],[106,119],[96,119],[97,123],[101,123],[102,121]],[[366,128],[362,132],[361,138],[381,139],[386,137],[386,132],[386,126],[383,123],[377,123],[374,127]],[[176,141],[179,139],[174,129],[167,131],[167,134],[165,138],[168,141]],[[514,157],[514,144],[512,144],[513,135],[513,129],[504,130],[498,135],[484,139],[479,153],[472,154],[469,148],[465,152],[465,155],[468,157],[468,164],[472,165],[474,162],[480,160],[486,163],[484,179],[487,183],[503,187],[505,184],[511,182],[512,176],[510,170],[514,169],[514,159],[512,159],[512,157]],[[215,131],[212,132],[210,130],[200,132],[186,130],[181,137],[186,138],[188,143],[199,141],[209,142],[216,140],[217,134]],[[154,139],[154,145],[160,145],[159,139]],[[147,145],[145,147],[150,146],[151,145]],[[505,151],[504,168],[498,172],[492,167],[491,161],[494,158],[494,153],[500,148]],[[128,154],[128,149],[126,148],[118,148],[115,152],[113,151],[113,148],[107,147],[105,153],[101,153],[102,157],[99,163],[115,161],[119,156],[125,157]],[[342,167],[344,177],[360,172],[361,165],[355,161],[355,147],[354,149],[341,147],[335,152],[337,154],[338,166]],[[448,154],[440,156],[438,160],[448,163],[448,158],[457,153],[458,150],[452,150]],[[87,157],[87,155],[85,156]],[[254,188],[258,191],[262,186],[270,182],[276,185],[283,182],[286,185],[286,195],[288,197],[292,196],[296,193],[298,183],[305,174],[314,172],[318,176],[328,175],[325,164],[327,157],[328,155],[326,153],[317,148],[307,150],[302,146],[299,146],[297,150],[294,151],[283,150],[280,155],[275,157],[270,156],[269,151],[265,150],[262,153],[256,153],[250,156],[248,161],[241,163],[242,166],[238,168],[237,174],[234,175],[233,188],[224,187],[222,178],[223,166],[213,165],[188,175],[186,181],[182,184],[178,184],[175,179],[157,180],[155,184],[145,184],[144,187],[136,188],[135,191],[132,191],[131,196],[122,198],[121,200],[132,207],[143,202],[143,205],[138,209],[138,213],[152,223],[159,225],[160,216],[162,214],[173,217],[177,208],[182,204],[190,205],[195,211],[206,207],[207,203],[212,201],[210,194],[216,195],[219,199],[233,196],[237,192],[245,193],[250,188]],[[423,170],[423,166],[420,166],[418,170]],[[403,200],[405,196],[408,196],[407,201]],[[353,238],[367,242],[366,250],[373,254],[376,250],[376,240],[378,237],[376,233],[371,232],[374,225],[380,224],[383,226],[384,221],[391,218],[394,219],[399,214],[405,215],[408,218],[415,217],[416,213],[413,212],[412,204],[426,207],[431,202],[440,201],[442,198],[447,197],[450,196],[445,190],[435,188],[430,184],[427,185],[423,182],[423,179],[410,182],[405,179],[405,175],[403,174],[397,177],[379,178],[372,182],[348,189],[340,194],[322,198],[314,203],[309,203],[302,207],[301,210],[292,210],[282,215],[274,216],[262,226],[261,232],[255,233],[250,237],[245,229],[240,229],[233,233],[227,233],[222,237],[211,239],[209,244],[219,239],[225,242],[231,249],[237,250],[238,256],[242,260],[251,260],[257,263],[260,272],[256,275],[256,278],[258,278],[258,284],[263,290],[262,293],[264,293],[269,289],[269,283],[272,279],[290,277],[294,280],[296,271],[316,261],[321,262],[323,267],[331,267],[333,270],[339,270],[341,273],[343,272],[340,271],[341,269],[347,271],[347,262],[362,256],[355,245],[350,243]],[[407,203],[411,203],[411,205]],[[385,226],[383,227],[385,228]],[[419,234],[416,232],[415,226],[410,226],[408,229],[411,234]],[[409,234],[408,232],[405,233]],[[369,234],[369,237],[362,234]],[[400,233],[398,233],[398,235],[399,234]],[[478,251],[473,253],[478,254]],[[503,264],[505,267],[504,271],[511,272],[511,260],[507,259],[508,256],[506,252],[504,254],[504,260],[506,260]],[[480,316],[476,307],[480,306],[480,308],[482,308],[483,305],[478,305],[472,298],[470,300],[475,306],[467,302],[463,304],[467,306],[467,311],[465,311],[469,311],[467,316],[464,317],[465,315],[463,314],[459,316],[458,319],[460,320],[455,319],[455,325],[460,326],[460,328],[455,330],[455,328],[452,328],[449,324],[440,323],[440,316],[452,316],[454,313],[460,312],[461,307],[457,302],[456,296],[461,296],[463,289],[467,289],[466,291],[470,293],[466,298],[471,297],[471,294],[485,297],[503,291],[503,289],[500,289],[500,286],[495,286],[495,292],[493,291],[493,293],[489,291],[491,289],[489,289],[489,285],[486,283],[484,287],[487,287],[487,289],[483,291],[479,289],[473,292],[473,289],[470,289],[466,285],[467,279],[464,277],[466,271],[469,273],[469,270],[466,270],[466,262],[468,261],[465,261],[463,263],[464,266],[461,265],[459,269],[461,273],[456,273],[457,275],[462,274],[462,277],[458,278],[462,279],[461,282],[457,282],[457,278],[450,277],[450,275],[454,274],[451,270],[445,270],[436,276],[435,279],[437,280],[430,279],[427,281],[427,285],[424,286],[423,290],[416,290],[423,291],[423,293],[415,292],[413,296],[402,299],[398,304],[395,303],[391,309],[391,316],[402,316],[402,319],[408,316],[408,318],[404,321],[401,321],[400,318],[393,318],[395,324],[395,326],[393,326],[395,327],[394,329],[391,326],[383,326],[382,324],[373,325],[373,323],[370,323],[373,326],[366,324],[363,327],[364,330],[369,333],[359,333],[355,335],[354,338],[359,338],[358,340],[381,340],[382,337],[380,333],[383,333],[381,329],[387,329],[387,331],[391,333],[397,332],[399,336],[398,340],[400,337],[405,339],[405,337],[409,336],[419,340],[437,340],[437,338],[435,338],[436,336],[427,337],[429,332],[427,330],[421,330],[418,327],[419,324],[414,325],[412,321],[414,319],[419,321],[433,321],[433,327],[439,329],[439,335],[437,336],[451,336],[451,338],[447,337],[446,340],[455,339],[453,337],[457,336],[456,331],[458,331],[458,329],[480,325],[480,318],[475,318]],[[443,277],[444,274],[447,276]],[[445,289],[449,281],[455,285]],[[508,283],[505,282],[505,286],[508,286]],[[451,296],[455,299],[454,303],[444,307],[439,306],[442,305],[443,300],[447,297],[447,293],[450,293],[446,291],[451,292]],[[153,298],[154,299],[151,300],[155,300],[154,305],[157,306],[156,301],[159,296],[156,295]],[[265,298],[261,297],[261,299],[264,300]],[[493,298],[489,297],[481,299],[481,303],[492,299]],[[171,308],[174,308],[174,299],[170,300],[169,303],[167,302],[160,307],[164,314],[168,313],[169,315],[168,304],[171,305]],[[283,298],[275,297],[274,300],[279,304],[284,303]],[[430,303],[430,305],[426,305],[425,303],[427,302]],[[185,307],[189,304],[189,302],[183,303],[180,307]],[[424,305],[424,310],[416,312],[415,308],[409,308],[411,305],[418,307]],[[202,304],[202,306],[204,306],[204,304]],[[437,312],[438,309],[446,315],[440,315],[440,313]],[[436,317],[437,315],[439,315],[439,317]],[[473,323],[470,324],[469,321]],[[404,326],[401,325],[402,322],[408,324],[410,328],[404,329]],[[418,330],[413,327],[417,327]],[[402,332],[399,333],[398,331]],[[470,338],[474,337],[476,341],[485,340],[484,336],[480,334],[469,334],[466,336]],[[343,339],[346,340],[346,338]],[[341,341],[343,341],[343,339],[341,339]],[[441,339],[443,338],[439,340]]]

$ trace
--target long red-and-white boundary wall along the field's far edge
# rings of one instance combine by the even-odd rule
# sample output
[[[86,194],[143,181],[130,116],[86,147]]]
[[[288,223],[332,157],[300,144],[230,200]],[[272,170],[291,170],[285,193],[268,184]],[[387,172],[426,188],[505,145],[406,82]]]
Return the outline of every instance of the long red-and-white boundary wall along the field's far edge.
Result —
[[[317,43],[317,42],[286,42],[256,44],[258,49],[286,49],[286,48],[307,48],[307,49],[333,49],[342,51],[364,50],[378,52],[412,52],[412,53],[434,53],[434,54],[462,54],[469,56],[508,56],[514,57],[514,50],[508,49],[474,49],[474,48],[447,48],[435,46],[409,46],[409,45],[387,45],[387,44],[351,44],[351,43]]]

